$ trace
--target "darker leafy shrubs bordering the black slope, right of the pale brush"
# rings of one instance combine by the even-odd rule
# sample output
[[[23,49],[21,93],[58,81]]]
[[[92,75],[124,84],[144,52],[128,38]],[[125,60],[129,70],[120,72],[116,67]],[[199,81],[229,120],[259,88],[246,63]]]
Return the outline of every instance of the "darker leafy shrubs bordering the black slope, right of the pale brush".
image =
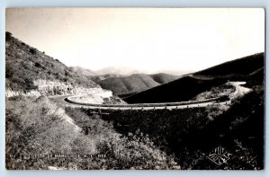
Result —
[[[157,146],[139,131],[129,137],[117,133],[112,123],[100,119],[98,115],[87,116],[78,109],[66,108],[76,125],[87,129],[88,137],[95,140],[95,148],[106,155],[105,169],[177,169],[174,157],[160,151]]]

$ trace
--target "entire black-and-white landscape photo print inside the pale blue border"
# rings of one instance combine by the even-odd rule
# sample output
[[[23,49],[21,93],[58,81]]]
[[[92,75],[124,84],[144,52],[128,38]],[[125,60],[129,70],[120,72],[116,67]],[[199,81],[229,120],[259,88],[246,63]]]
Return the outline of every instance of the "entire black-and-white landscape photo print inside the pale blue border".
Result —
[[[5,9],[7,170],[265,169],[264,8]]]

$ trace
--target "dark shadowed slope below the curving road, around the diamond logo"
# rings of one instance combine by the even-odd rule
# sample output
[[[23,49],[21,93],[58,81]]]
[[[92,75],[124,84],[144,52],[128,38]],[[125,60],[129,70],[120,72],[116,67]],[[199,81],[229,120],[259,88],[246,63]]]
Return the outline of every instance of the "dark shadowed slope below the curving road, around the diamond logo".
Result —
[[[111,110],[104,111],[107,114],[102,118],[112,122],[121,134],[140,131],[168,155],[174,155],[183,169],[260,170],[264,168],[264,88],[257,85],[253,90],[235,100],[228,111],[220,110],[218,105],[181,110]],[[218,146],[233,155],[220,166],[205,156]]]

